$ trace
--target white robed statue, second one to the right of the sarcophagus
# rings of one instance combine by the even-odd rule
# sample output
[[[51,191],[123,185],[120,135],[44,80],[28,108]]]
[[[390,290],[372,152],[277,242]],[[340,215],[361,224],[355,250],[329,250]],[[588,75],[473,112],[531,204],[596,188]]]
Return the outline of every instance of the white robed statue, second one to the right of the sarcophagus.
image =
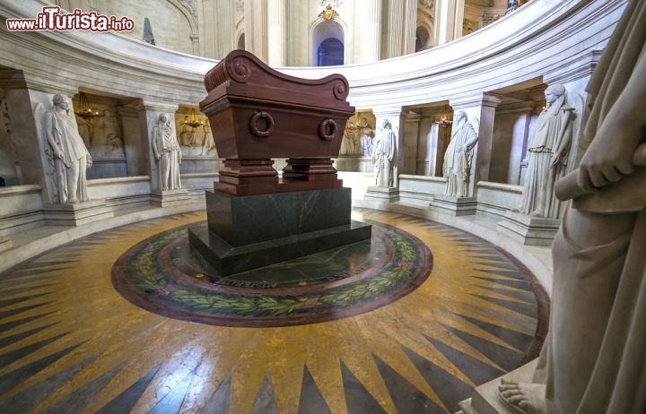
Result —
[[[471,177],[471,160],[478,136],[473,125],[468,122],[467,113],[458,111],[455,114],[453,130],[447,151],[444,153],[442,171],[447,180],[444,195],[451,197],[468,197],[468,185]]]

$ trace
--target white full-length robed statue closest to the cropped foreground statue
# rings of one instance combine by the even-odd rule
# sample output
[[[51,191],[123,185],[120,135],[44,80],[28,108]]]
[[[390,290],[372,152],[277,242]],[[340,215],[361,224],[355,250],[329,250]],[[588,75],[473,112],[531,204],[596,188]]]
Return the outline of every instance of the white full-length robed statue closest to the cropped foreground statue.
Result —
[[[528,170],[518,209],[534,217],[556,219],[561,203],[554,196],[554,183],[563,177],[570,145],[574,108],[565,105],[565,88],[554,84],[546,89],[546,108],[537,120],[528,143]]]

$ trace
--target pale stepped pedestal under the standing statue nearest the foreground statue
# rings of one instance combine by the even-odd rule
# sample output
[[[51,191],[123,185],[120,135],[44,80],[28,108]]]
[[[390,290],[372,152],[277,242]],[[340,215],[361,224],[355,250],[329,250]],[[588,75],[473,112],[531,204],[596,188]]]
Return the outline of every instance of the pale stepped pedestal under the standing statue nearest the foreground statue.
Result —
[[[498,222],[496,229],[525,246],[552,246],[560,225],[561,220],[558,219],[531,217],[508,211]]]

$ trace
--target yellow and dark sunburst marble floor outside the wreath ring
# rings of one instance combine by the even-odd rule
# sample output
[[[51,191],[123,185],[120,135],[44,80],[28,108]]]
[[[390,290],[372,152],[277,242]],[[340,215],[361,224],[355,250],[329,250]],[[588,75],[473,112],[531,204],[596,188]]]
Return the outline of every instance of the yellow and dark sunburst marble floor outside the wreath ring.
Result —
[[[353,218],[417,237],[432,273],[404,298],[324,323],[190,323],[118,294],[119,256],[204,213],[84,237],[5,272],[0,412],[446,413],[536,355],[546,296],[507,254],[428,220]]]

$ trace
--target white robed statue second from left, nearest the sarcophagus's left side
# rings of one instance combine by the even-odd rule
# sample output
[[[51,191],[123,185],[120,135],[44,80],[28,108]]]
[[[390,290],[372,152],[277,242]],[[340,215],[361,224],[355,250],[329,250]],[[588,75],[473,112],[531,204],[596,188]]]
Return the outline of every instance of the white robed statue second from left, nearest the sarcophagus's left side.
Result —
[[[153,126],[153,153],[157,161],[157,177],[160,190],[179,190],[179,164],[181,151],[170,116],[160,114]]]

